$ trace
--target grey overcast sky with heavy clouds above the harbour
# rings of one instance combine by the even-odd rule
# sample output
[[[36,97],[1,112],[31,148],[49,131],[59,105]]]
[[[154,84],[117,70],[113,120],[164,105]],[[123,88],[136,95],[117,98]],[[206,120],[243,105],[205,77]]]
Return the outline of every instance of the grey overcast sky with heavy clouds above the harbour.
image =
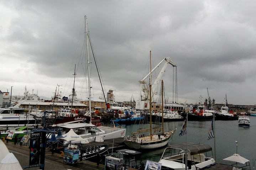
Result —
[[[104,89],[116,101],[139,99],[139,83],[164,57],[177,64],[178,102],[199,96],[256,104],[256,2],[253,0],[8,0],[0,1],[0,90],[51,97],[75,89],[86,98],[83,53],[87,16]],[[90,59],[91,60],[91,59]],[[92,61],[93,62],[93,61]],[[92,63],[92,94],[101,87]],[[152,67],[153,67],[152,66]],[[162,76],[172,99],[173,69]],[[88,88],[87,88],[88,89]],[[172,101],[172,100],[169,100]]]

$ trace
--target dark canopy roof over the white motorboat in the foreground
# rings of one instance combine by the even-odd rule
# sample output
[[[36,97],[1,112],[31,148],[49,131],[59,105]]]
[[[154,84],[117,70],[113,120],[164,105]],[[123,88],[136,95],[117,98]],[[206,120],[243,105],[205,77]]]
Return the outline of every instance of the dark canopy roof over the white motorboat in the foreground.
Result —
[[[186,143],[174,144],[174,145],[171,145],[170,147],[182,149],[183,151],[185,151]],[[204,145],[204,144],[194,143],[194,142],[188,142],[187,148],[188,148],[188,152],[190,152],[190,155],[205,153],[212,150],[210,145]]]

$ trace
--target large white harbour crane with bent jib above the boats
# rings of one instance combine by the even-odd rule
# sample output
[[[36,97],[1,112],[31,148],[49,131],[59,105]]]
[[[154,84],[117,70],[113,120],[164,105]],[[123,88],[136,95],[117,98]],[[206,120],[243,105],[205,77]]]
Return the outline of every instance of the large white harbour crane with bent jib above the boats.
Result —
[[[160,79],[161,79],[163,73],[165,72],[165,69],[166,69],[167,65],[168,65],[168,64],[171,64],[173,67],[176,67],[176,68],[177,68],[177,64],[174,63],[174,62],[171,60],[170,57],[165,57],[165,58],[163,58],[162,61],[160,61],[160,63],[158,63],[158,64],[156,65],[155,68],[153,68],[143,79],[141,79],[141,80],[139,81],[140,87],[141,87],[141,91],[140,91],[140,100],[136,101],[136,109],[140,109],[140,110],[147,109],[147,108],[146,108],[147,105],[148,105],[148,102],[147,102],[147,101],[148,101],[148,99],[149,99],[149,98],[148,98],[148,97],[149,97],[149,88],[148,88],[148,84],[149,84],[149,83],[146,81],[146,79],[150,76],[151,73],[155,72],[156,69],[159,68],[162,63],[164,63],[163,66],[162,66],[162,69],[161,69],[160,73],[158,73],[158,75],[157,75],[157,77],[156,77],[156,79],[155,79],[155,82],[152,83],[152,85],[151,85],[151,89],[152,89],[152,90],[151,90],[151,91],[152,91],[152,98],[153,98],[153,95],[157,94],[157,92],[156,92],[157,85],[158,85],[159,82],[161,82]],[[173,78],[173,79],[174,79],[174,78]],[[177,79],[177,78],[175,78],[175,80],[176,80],[176,79]],[[149,106],[149,105],[148,105],[148,106]]]

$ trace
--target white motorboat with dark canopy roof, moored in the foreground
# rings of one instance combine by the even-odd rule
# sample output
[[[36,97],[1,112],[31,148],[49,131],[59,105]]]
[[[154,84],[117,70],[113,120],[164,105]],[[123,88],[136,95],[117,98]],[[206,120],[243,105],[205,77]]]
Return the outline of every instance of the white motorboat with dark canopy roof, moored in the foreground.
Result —
[[[185,149],[187,147],[187,168],[185,165]],[[185,149],[184,149],[185,148]],[[211,157],[208,157],[211,152]],[[174,144],[164,149],[162,157],[159,161],[162,169],[172,170],[197,170],[207,166],[215,165],[212,148],[209,145],[188,142]]]

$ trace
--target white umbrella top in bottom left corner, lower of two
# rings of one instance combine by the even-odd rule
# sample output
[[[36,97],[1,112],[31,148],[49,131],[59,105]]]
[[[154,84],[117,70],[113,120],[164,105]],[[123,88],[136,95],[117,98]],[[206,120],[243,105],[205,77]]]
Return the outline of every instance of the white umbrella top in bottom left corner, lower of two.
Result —
[[[13,153],[8,153],[0,162],[1,170],[22,170],[19,161]]]

